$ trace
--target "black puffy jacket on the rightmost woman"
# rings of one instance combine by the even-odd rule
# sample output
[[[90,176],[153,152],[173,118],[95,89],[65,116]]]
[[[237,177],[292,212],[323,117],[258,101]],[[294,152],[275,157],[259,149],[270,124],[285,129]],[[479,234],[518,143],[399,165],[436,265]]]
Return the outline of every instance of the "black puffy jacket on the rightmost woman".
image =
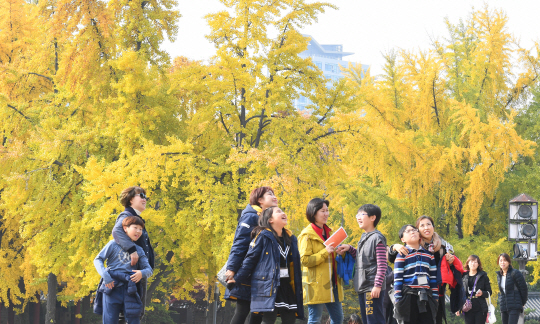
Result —
[[[499,307],[501,312],[509,310],[523,310],[528,297],[528,288],[525,278],[518,270],[510,267],[506,274],[506,293],[501,288],[502,273],[497,271],[497,283],[499,285]]]

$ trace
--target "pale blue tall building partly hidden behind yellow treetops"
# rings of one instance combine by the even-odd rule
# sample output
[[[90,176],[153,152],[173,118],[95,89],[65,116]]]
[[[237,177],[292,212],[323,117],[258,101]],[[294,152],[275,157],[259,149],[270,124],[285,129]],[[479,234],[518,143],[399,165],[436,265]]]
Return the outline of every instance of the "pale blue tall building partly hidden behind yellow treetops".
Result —
[[[349,61],[343,61],[344,56],[349,56],[354,53],[352,52],[343,52],[343,45],[322,45],[319,44],[315,38],[310,35],[304,35],[307,38],[310,38],[308,44],[308,49],[299,54],[302,58],[311,57],[311,60],[315,65],[324,73],[324,76],[330,80],[339,80],[344,77],[344,74],[341,73],[341,67],[347,68],[349,63],[353,66],[356,66],[355,63]],[[367,70],[367,65],[362,65],[364,70]],[[331,83],[328,83],[330,86]],[[300,96],[295,100],[294,106],[297,110],[305,110],[307,105],[310,105],[311,101],[304,97]]]

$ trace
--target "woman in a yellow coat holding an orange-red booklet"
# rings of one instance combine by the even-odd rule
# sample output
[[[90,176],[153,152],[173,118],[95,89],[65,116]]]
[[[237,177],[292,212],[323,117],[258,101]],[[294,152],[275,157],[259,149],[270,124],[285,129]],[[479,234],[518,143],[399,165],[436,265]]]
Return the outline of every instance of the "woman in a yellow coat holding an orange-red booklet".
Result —
[[[311,224],[298,236],[308,324],[321,323],[323,307],[326,307],[332,324],[343,323],[343,279],[337,275],[335,247],[323,244],[332,235],[332,230],[326,226],[328,206],[328,200],[312,199],[306,208],[306,217]]]

